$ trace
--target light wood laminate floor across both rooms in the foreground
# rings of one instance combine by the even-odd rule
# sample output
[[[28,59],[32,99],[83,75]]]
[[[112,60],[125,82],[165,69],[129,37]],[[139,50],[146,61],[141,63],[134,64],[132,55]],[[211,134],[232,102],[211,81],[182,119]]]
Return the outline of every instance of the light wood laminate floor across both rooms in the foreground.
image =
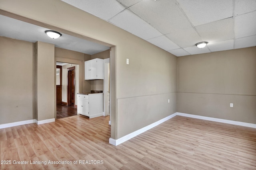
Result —
[[[0,169],[256,169],[253,128],[176,116],[113,146],[108,143],[108,121],[109,117],[77,115],[0,129],[0,160],[11,162],[0,164]],[[48,164],[49,160],[72,164]],[[30,164],[33,161],[39,164]]]

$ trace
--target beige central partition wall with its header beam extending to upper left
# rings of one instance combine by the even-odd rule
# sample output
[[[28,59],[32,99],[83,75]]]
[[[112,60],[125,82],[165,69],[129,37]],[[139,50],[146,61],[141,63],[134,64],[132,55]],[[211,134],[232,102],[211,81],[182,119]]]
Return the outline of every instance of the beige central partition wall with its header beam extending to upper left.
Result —
[[[177,57],[64,2],[34,0],[33,8],[30,6],[30,0],[12,0],[1,2],[0,9],[16,14],[15,18],[47,25],[49,29],[116,46],[115,66],[112,65],[116,72],[117,99],[112,101],[117,102],[117,113],[111,117],[116,118],[112,121],[115,123],[112,126],[115,129],[111,131],[113,139],[138,130],[141,124],[149,125],[176,112]],[[130,59],[129,65],[126,64],[127,58]],[[143,101],[136,100],[140,97]],[[160,99],[164,109],[159,109],[159,102],[152,102],[152,97]],[[169,104],[167,98],[170,98]],[[130,102],[131,99],[136,102]],[[147,103],[148,108],[142,107]]]

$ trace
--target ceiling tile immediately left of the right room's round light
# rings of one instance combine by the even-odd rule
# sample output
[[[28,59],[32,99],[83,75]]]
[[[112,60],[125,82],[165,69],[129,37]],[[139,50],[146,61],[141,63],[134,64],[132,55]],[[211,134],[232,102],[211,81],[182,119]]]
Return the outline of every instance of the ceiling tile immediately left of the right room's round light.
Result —
[[[202,41],[193,27],[180,29],[180,31],[166,34],[166,36],[182,48],[191,47]]]

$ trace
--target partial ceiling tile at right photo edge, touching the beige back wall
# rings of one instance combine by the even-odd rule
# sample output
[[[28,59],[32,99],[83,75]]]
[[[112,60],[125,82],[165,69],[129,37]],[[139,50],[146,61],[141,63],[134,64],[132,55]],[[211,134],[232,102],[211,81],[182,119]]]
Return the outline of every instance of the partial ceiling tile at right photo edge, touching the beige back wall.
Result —
[[[235,49],[256,46],[256,35],[235,39]]]

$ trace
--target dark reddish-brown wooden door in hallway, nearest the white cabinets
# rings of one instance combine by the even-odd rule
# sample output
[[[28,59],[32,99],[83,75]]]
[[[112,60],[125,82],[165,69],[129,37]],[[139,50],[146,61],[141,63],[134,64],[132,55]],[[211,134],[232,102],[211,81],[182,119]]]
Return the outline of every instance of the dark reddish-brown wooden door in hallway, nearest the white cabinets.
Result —
[[[68,68],[68,106],[75,107],[75,67]]]

